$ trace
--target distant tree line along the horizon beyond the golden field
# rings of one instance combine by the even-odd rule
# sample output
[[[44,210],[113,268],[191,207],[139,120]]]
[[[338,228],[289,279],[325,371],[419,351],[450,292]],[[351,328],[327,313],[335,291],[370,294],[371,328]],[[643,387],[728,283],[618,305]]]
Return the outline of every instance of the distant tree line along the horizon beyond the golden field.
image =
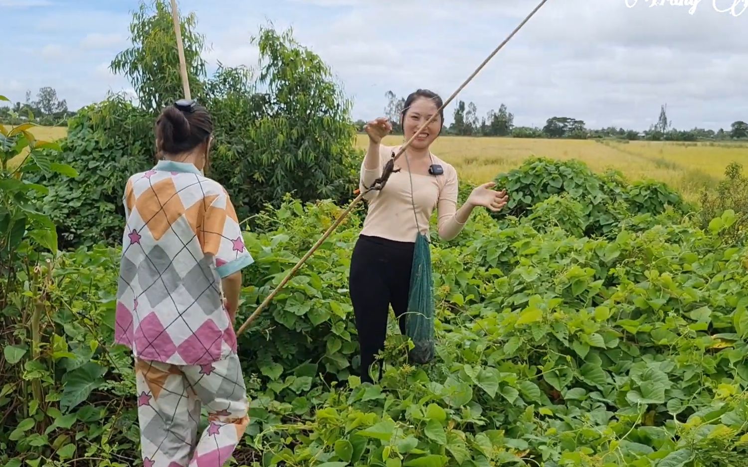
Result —
[[[402,134],[399,125],[399,115],[405,106],[405,98],[396,96],[391,90],[384,95],[387,106],[384,117],[393,123],[393,133]],[[514,114],[509,112],[506,105],[501,104],[498,111],[491,109],[485,117],[479,117],[475,103],[467,105],[460,100],[453,112],[453,123],[444,129],[443,134],[458,136],[503,136],[503,137],[542,137],[566,139],[613,138],[619,140],[648,140],[648,141],[698,141],[698,140],[742,140],[748,139],[748,123],[738,120],[729,129],[714,130],[693,128],[679,130],[672,127],[672,121],[667,117],[667,106],[660,107],[660,117],[657,123],[643,132],[634,129],[623,129],[610,126],[603,129],[589,129],[584,120],[572,117],[551,117],[545,121],[545,126],[515,126]],[[365,122],[358,120],[355,125],[359,132]]]

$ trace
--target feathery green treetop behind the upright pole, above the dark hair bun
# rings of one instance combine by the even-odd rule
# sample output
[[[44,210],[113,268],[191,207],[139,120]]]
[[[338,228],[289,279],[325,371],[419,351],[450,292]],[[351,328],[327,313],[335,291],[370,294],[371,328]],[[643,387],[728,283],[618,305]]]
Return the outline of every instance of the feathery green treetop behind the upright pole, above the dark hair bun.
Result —
[[[206,75],[206,63],[200,56],[204,38],[194,31],[197,24],[194,13],[180,15],[180,24],[190,93],[193,98],[200,97]],[[112,72],[129,78],[142,108],[156,113],[184,97],[171,3],[141,1],[132,15],[130,34],[132,47],[117,54],[109,67]]]

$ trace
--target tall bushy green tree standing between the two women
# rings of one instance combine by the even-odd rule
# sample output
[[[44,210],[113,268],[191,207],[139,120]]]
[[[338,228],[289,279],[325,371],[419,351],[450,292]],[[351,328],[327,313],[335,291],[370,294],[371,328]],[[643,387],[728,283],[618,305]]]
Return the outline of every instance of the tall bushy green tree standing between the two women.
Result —
[[[239,215],[288,193],[303,201],[347,199],[361,164],[352,102],[291,29],[263,27],[251,42],[260,50],[254,82],[251,71],[224,69],[208,84],[213,92],[216,80],[230,78],[209,98],[218,112],[212,177],[227,187]]]

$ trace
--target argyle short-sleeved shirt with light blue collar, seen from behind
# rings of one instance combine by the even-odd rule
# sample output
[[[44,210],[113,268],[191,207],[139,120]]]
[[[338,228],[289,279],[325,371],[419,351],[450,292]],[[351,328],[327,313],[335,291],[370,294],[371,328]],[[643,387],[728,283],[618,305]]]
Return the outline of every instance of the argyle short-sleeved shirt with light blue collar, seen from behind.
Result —
[[[206,365],[236,351],[221,278],[251,265],[229,195],[159,161],[127,181],[114,341],[135,357]]]

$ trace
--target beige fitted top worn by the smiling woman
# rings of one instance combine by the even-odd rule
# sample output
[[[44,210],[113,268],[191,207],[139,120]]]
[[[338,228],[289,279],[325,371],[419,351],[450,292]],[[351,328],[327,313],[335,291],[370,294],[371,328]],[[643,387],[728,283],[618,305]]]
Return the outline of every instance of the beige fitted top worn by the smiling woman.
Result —
[[[399,146],[379,146],[379,167],[367,170],[361,163],[361,177],[359,188],[364,191],[370,187],[375,179],[381,176],[384,164],[392,157]],[[397,173],[392,173],[387,185],[381,191],[370,191],[364,196],[369,202],[369,210],[361,235],[387,238],[393,241],[415,241],[417,225],[420,232],[429,235],[429,220],[434,209],[438,212],[438,235],[443,240],[455,238],[462,227],[455,217],[457,212],[457,171],[455,167],[432,155],[433,164],[441,164],[444,174],[434,176],[413,173],[413,202],[411,202],[411,181],[408,176],[408,164],[405,155],[400,156],[396,165],[401,167]],[[416,224],[416,214],[418,223]]]

